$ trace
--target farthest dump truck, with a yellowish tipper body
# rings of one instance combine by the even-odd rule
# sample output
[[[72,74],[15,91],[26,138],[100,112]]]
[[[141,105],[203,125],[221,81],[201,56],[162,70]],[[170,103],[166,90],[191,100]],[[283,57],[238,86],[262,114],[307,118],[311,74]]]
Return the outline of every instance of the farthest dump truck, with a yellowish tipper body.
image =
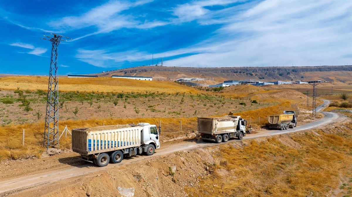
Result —
[[[283,114],[268,116],[270,129],[288,129],[297,125],[297,115],[295,111],[285,110]]]

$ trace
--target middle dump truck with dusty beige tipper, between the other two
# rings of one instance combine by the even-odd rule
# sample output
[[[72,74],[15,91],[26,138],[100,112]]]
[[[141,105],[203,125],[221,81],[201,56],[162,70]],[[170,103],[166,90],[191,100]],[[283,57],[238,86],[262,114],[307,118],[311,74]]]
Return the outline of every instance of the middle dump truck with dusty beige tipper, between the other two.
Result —
[[[227,142],[229,138],[242,140],[246,133],[251,133],[251,126],[246,128],[247,121],[231,112],[227,116],[216,118],[198,117],[198,133],[203,141]]]

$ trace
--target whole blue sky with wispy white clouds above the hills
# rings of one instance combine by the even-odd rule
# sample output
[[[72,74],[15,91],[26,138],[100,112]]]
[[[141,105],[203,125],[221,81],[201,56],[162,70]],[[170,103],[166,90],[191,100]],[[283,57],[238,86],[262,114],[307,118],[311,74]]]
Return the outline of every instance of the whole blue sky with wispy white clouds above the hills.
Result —
[[[0,73],[352,64],[352,1],[0,1]]]

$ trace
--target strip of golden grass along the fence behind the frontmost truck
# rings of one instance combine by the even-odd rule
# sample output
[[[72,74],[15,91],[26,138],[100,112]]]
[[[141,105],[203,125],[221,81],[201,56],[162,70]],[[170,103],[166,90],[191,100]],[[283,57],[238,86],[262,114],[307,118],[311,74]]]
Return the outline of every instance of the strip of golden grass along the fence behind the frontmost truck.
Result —
[[[180,121],[182,120],[182,131]],[[60,121],[59,134],[61,135],[65,125],[69,130],[75,128],[87,128],[115,124],[130,124],[148,122],[159,125],[162,122],[161,138],[169,139],[177,135],[185,135],[185,131],[194,130],[197,127],[196,118],[135,118],[135,119],[102,119],[102,120],[67,120]],[[25,129],[25,145],[22,145],[22,132]],[[69,134],[68,134],[69,135]],[[31,155],[40,157],[43,148],[44,122],[33,124],[18,124],[0,127],[0,161],[3,159],[27,158]],[[71,148],[71,136],[61,137],[60,149]]]

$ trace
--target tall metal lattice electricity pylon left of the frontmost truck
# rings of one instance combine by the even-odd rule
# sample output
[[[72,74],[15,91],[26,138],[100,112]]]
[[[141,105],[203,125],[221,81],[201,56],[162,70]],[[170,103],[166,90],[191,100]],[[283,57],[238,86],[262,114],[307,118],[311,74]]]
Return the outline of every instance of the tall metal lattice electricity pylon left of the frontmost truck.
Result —
[[[59,147],[59,113],[58,113],[58,46],[62,38],[67,41],[67,37],[50,34],[45,36],[46,38],[40,38],[43,40],[49,40],[51,42],[51,59],[50,59],[50,71],[49,71],[49,86],[48,96],[46,102],[46,115],[45,115],[45,128],[44,128],[44,141],[43,145],[46,149],[58,148]]]

